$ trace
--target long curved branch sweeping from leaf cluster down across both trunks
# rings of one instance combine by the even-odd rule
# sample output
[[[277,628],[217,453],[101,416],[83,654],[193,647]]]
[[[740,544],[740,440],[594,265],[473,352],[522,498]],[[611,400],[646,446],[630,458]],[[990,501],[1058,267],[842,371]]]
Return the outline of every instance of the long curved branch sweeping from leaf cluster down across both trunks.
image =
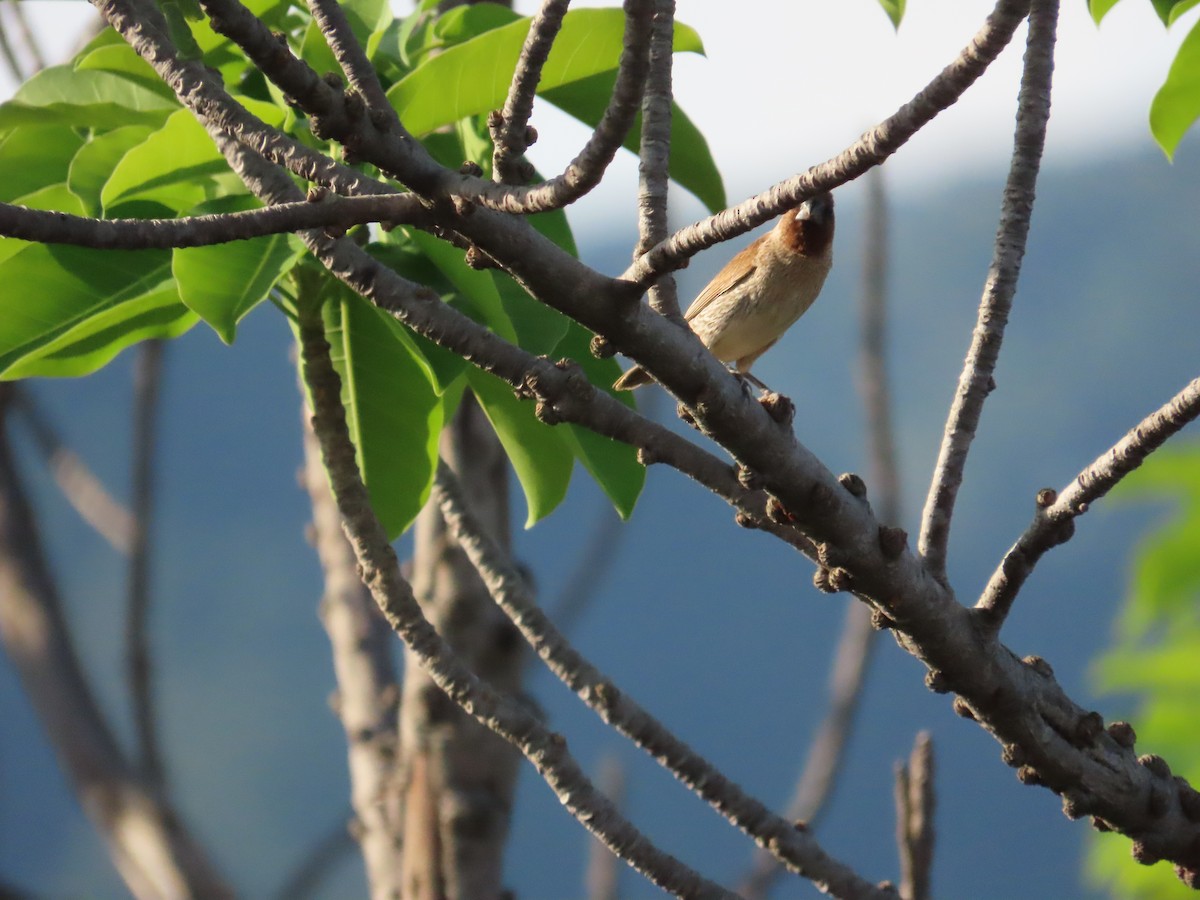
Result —
[[[320,442],[343,527],[359,560],[362,581],[392,630],[421,659],[437,685],[478,721],[518,748],[563,805],[610,850],[664,890],[696,898],[731,898],[720,886],[652,845],[588,781],[560,734],[546,728],[524,706],[498,694],[467,670],[426,622],[412,588],[401,577],[396,553],[371,510],[346,427],[329,343],[320,317],[312,312],[301,311],[300,348],[305,382],[314,403],[313,431]]]

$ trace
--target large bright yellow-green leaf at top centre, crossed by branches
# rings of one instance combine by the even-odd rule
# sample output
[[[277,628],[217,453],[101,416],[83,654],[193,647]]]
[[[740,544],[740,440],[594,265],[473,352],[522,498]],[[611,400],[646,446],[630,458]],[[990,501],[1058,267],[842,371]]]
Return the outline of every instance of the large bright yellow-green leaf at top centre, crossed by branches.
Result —
[[[542,68],[540,91],[616,70],[625,17],[620,10],[572,10]],[[404,125],[425,134],[504,103],[529,19],[487,31],[430,58],[392,85],[388,100]],[[696,32],[676,23],[676,52],[702,52]]]

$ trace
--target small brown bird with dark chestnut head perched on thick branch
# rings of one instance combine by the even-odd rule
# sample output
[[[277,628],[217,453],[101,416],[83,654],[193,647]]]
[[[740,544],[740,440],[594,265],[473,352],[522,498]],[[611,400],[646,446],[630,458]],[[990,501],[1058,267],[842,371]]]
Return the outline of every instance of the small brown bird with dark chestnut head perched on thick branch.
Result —
[[[833,196],[817,194],[785,212],[762,238],[726,263],[684,318],[721,362],[760,388],[755,360],[784,336],[821,293],[833,263]],[[632,390],[652,378],[634,366],[613,388]]]

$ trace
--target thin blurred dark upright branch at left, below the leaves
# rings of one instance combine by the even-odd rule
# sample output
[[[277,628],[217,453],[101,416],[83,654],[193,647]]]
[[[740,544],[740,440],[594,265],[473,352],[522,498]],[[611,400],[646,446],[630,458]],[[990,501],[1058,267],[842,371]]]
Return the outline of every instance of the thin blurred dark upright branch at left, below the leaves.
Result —
[[[158,724],[154,709],[154,666],[146,625],[150,617],[150,557],[154,534],[154,474],[157,448],[158,383],[162,379],[162,341],[138,348],[133,372],[133,541],[130,546],[128,598],[125,618],[125,654],[130,697],[138,738],[138,767],[156,790],[164,788]]]

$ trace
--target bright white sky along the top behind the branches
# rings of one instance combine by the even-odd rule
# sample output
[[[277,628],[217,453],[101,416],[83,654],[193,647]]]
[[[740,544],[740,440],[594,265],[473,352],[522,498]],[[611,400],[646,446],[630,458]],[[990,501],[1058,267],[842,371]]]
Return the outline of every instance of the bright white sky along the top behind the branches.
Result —
[[[521,12],[536,5],[517,0]],[[61,44],[52,48],[52,59],[73,46],[77,23],[88,14],[79,0],[23,6],[38,34]],[[708,138],[736,203],[833,156],[910,100],[955,56],[991,6],[991,0],[910,0],[896,32],[875,0],[679,0],[678,17],[700,32],[707,56],[677,56],[677,96]],[[1085,0],[1063,0],[1049,158],[1069,162],[1073,155],[1152,146],[1150,102],[1194,18],[1166,31],[1150,2],[1124,0],[1097,28]],[[1003,166],[1022,46],[1024,26],[966,97],[889,162],[893,190],[926,190]],[[544,173],[559,170],[586,138],[564,119],[548,104],[535,109],[542,140],[530,156]],[[590,200],[593,209],[631,209],[636,169],[622,156],[613,184]],[[697,204],[679,200],[682,216],[701,215]],[[577,226],[587,229],[587,218],[576,217]]]

